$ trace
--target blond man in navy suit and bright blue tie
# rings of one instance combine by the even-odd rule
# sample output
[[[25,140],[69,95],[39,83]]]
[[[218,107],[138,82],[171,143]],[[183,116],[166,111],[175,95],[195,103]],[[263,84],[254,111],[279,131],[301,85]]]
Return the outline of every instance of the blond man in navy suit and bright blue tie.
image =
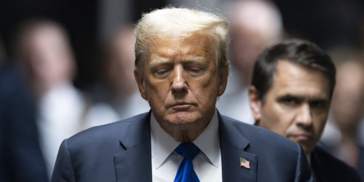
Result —
[[[222,116],[228,23],[165,8],[135,30],[134,75],[149,113],[80,132],[62,143],[52,182],[306,182],[303,149]]]

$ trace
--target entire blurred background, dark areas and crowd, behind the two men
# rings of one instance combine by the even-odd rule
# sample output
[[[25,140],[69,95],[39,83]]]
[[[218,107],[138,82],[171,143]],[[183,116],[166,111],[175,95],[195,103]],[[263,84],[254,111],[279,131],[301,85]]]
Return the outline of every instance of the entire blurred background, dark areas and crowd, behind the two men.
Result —
[[[26,157],[38,162],[22,162],[23,171],[32,175],[29,166],[32,169],[33,165],[29,163],[37,163],[39,166],[33,169],[43,179],[47,175],[49,179],[63,139],[92,126],[149,111],[148,102],[140,97],[133,79],[131,24],[135,24],[142,12],[170,4],[207,9],[231,21],[230,83],[216,107],[222,114],[247,123],[254,122],[247,99],[249,74],[255,57],[265,47],[296,37],[310,40],[328,51],[340,79],[335,88],[337,96],[331,104],[333,114],[321,139],[331,146],[332,149],[328,148],[331,153],[358,167],[357,144],[364,146],[364,1],[272,0],[257,6],[237,1],[0,0],[0,73],[5,75],[1,78],[0,74],[0,181],[3,181],[2,174],[13,175],[9,166],[13,166],[14,176],[19,176],[19,165],[14,161],[26,155],[17,156],[15,151],[38,152],[33,158]],[[243,15],[243,11],[251,13]],[[24,37],[31,38],[24,38],[27,45],[24,50],[28,51],[24,53],[19,51],[22,44],[15,41],[19,38],[17,31],[32,18],[50,21],[25,29]],[[29,34],[28,30],[31,30]],[[76,64],[72,65],[74,61]],[[20,79],[9,71],[13,68],[3,64],[8,62],[15,63],[11,64],[17,67],[14,70],[21,68],[17,71],[25,78],[20,75]],[[18,93],[19,90],[23,91]],[[8,120],[2,119],[4,116]],[[341,145],[345,144],[346,135],[353,136],[349,139],[353,151],[341,150],[349,149],[347,144]],[[9,142],[7,138],[14,141]],[[17,149],[12,143],[29,145],[25,146],[27,149]],[[364,153],[364,147],[361,149]],[[43,174],[44,168],[47,174]],[[29,178],[32,177],[26,179]],[[34,178],[34,181],[47,179]]]

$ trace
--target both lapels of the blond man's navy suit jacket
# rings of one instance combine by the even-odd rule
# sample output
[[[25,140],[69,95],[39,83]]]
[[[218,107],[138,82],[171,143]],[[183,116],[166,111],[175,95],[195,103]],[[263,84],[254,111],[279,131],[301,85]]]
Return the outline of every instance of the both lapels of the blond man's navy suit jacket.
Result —
[[[117,182],[151,182],[151,147],[150,114],[132,117],[128,132],[120,137],[123,151],[114,155]],[[244,151],[249,147],[249,140],[243,133],[249,133],[248,127],[236,124],[239,121],[221,116],[219,120],[220,149],[223,182],[256,181],[257,156]],[[250,168],[240,165],[240,158],[249,162]]]

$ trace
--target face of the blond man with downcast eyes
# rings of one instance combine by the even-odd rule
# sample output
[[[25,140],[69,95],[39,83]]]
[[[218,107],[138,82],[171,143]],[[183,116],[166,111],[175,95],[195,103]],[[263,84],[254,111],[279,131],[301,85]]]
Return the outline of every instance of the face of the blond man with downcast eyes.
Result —
[[[135,76],[159,124],[166,130],[206,126],[228,76],[210,56],[209,39],[159,39],[149,50],[149,59]]]

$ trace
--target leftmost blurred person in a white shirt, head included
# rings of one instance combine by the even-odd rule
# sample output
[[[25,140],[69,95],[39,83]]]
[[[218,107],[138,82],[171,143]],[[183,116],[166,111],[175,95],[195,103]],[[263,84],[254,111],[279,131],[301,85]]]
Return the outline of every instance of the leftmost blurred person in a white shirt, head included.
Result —
[[[62,140],[80,131],[84,112],[83,96],[72,84],[76,64],[65,29],[52,20],[25,21],[13,57],[37,102],[40,145],[50,176]]]

